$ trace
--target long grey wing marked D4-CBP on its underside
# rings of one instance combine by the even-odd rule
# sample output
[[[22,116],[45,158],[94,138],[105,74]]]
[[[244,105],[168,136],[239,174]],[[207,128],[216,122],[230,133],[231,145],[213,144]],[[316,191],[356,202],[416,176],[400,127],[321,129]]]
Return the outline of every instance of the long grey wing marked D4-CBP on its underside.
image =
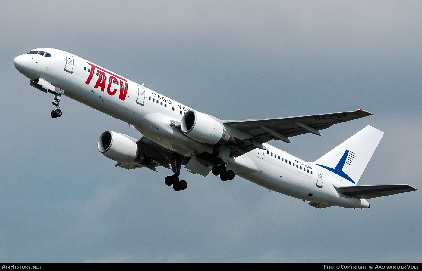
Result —
[[[225,120],[224,124],[229,133],[238,139],[236,146],[230,152],[230,156],[238,157],[255,148],[265,149],[262,143],[271,140],[292,143],[289,137],[305,133],[321,135],[319,130],[330,128],[336,123],[356,120],[370,115],[373,114],[359,109],[349,112],[276,119]]]

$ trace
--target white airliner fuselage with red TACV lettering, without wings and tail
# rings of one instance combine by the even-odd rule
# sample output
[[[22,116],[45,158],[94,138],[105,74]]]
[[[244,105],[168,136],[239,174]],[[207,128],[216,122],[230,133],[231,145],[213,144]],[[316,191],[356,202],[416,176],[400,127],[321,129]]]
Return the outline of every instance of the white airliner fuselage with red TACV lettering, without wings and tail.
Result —
[[[151,141],[182,156],[213,152],[208,144],[188,138],[169,125],[181,121],[190,107],[68,52],[51,48],[35,50],[46,51],[51,57],[24,54],[14,60],[19,72],[31,80],[43,78],[64,90],[63,95],[129,123]],[[70,64],[69,56],[73,58]],[[335,189],[352,183],[338,181],[334,173],[274,146],[264,146],[268,153],[254,149],[230,158],[227,168],[253,183],[298,199],[349,208],[369,207],[365,199],[342,197]],[[321,188],[316,186],[319,172],[323,174]]]

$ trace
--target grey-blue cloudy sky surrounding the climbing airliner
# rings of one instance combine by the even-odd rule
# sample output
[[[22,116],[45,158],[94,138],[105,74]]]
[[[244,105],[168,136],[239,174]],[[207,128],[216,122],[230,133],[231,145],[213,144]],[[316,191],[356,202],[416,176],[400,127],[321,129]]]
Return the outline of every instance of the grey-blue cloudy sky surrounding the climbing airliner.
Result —
[[[365,109],[273,142],[314,161],[385,132],[360,185],[422,189],[420,1],[9,1],[0,10],[1,262],[421,262],[420,191],[316,209],[236,177],[124,170],[97,150],[126,123],[30,87],[13,58],[67,50],[226,120]]]

